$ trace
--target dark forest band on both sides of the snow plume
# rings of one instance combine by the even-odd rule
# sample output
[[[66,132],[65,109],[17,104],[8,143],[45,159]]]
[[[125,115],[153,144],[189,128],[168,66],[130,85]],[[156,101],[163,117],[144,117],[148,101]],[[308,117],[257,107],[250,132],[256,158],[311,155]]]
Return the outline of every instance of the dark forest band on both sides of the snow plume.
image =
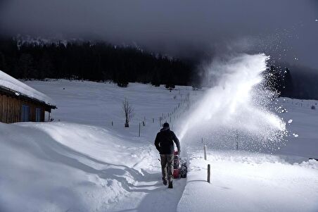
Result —
[[[18,79],[45,78],[110,80],[120,87],[129,82],[153,86],[191,85],[201,89],[197,63],[132,46],[106,42],[20,42],[0,37],[0,70]],[[269,63],[264,73],[266,86],[297,99],[318,99],[317,70]]]

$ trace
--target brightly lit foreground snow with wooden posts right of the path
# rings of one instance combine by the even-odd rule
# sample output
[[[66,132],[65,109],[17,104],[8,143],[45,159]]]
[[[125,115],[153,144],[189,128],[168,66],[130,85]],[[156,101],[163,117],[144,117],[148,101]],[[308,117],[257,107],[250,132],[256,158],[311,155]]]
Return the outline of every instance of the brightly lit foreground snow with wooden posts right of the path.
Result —
[[[209,151],[190,154],[178,211],[317,211],[318,161],[290,163],[279,156]],[[211,164],[211,184],[207,165]]]

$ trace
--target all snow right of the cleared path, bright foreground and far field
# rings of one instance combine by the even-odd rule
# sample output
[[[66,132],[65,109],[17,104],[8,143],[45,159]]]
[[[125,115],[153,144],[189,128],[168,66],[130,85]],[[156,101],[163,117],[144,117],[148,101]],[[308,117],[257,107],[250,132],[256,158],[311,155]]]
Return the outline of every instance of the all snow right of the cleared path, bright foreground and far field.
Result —
[[[277,99],[288,137],[272,154],[210,149],[204,161],[203,144],[189,146],[190,172],[178,211],[318,211],[318,161],[309,160],[318,157],[318,113],[311,109],[317,102]]]

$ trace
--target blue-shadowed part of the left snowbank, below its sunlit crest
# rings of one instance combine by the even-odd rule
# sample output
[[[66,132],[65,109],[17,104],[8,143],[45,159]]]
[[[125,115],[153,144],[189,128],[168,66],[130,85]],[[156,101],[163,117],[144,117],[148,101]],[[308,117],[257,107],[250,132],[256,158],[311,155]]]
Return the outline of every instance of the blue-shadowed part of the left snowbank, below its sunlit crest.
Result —
[[[89,158],[34,127],[1,124],[3,130],[15,132],[0,142],[3,211],[93,211],[127,194],[125,178],[108,171],[125,168]]]

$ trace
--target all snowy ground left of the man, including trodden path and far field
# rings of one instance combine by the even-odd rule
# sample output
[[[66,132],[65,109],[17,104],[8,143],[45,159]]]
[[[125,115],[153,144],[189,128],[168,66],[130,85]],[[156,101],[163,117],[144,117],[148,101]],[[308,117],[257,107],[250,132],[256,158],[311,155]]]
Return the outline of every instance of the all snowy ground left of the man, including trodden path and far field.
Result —
[[[136,132],[144,116],[171,113],[179,91],[67,80],[27,83],[52,96],[58,109],[53,123],[1,124],[0,167],[6,171],[0,189],[7,192],[1,193],[0,211],[148,211],[154,205],[153,211],[176,211],[186,180],[175,180],[169,192],[162,185],[153,146],[158,120],[147,118],[141,137]],[[125,97],[136,113],[129,128],[123,127]]]

